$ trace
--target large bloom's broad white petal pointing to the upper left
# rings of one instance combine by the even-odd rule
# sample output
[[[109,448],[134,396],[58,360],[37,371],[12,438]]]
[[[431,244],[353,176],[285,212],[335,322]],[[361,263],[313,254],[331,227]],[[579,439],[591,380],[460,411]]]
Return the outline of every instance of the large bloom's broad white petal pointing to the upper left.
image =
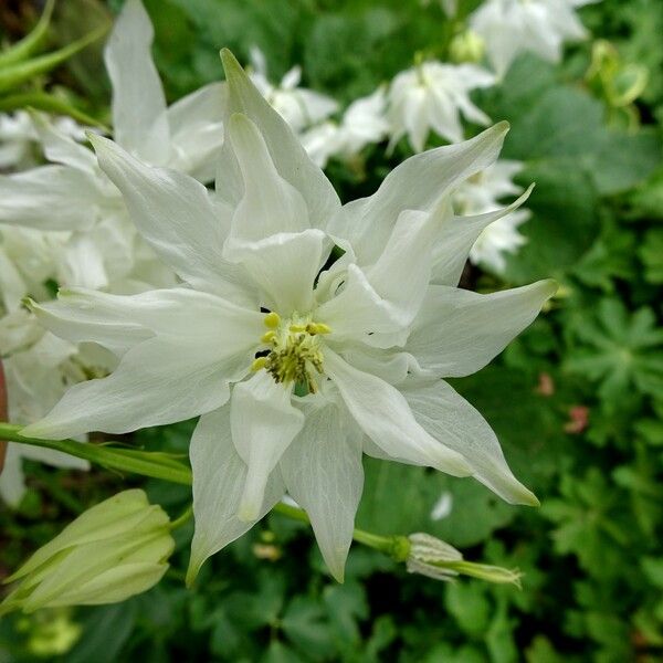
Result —
[[[192,286],[249,302],[238,267],[222,259],[231,212],[181,172],[150,168],[112,140],[92,139],[99,165],[122,191],[136,228],[152,249]]]

